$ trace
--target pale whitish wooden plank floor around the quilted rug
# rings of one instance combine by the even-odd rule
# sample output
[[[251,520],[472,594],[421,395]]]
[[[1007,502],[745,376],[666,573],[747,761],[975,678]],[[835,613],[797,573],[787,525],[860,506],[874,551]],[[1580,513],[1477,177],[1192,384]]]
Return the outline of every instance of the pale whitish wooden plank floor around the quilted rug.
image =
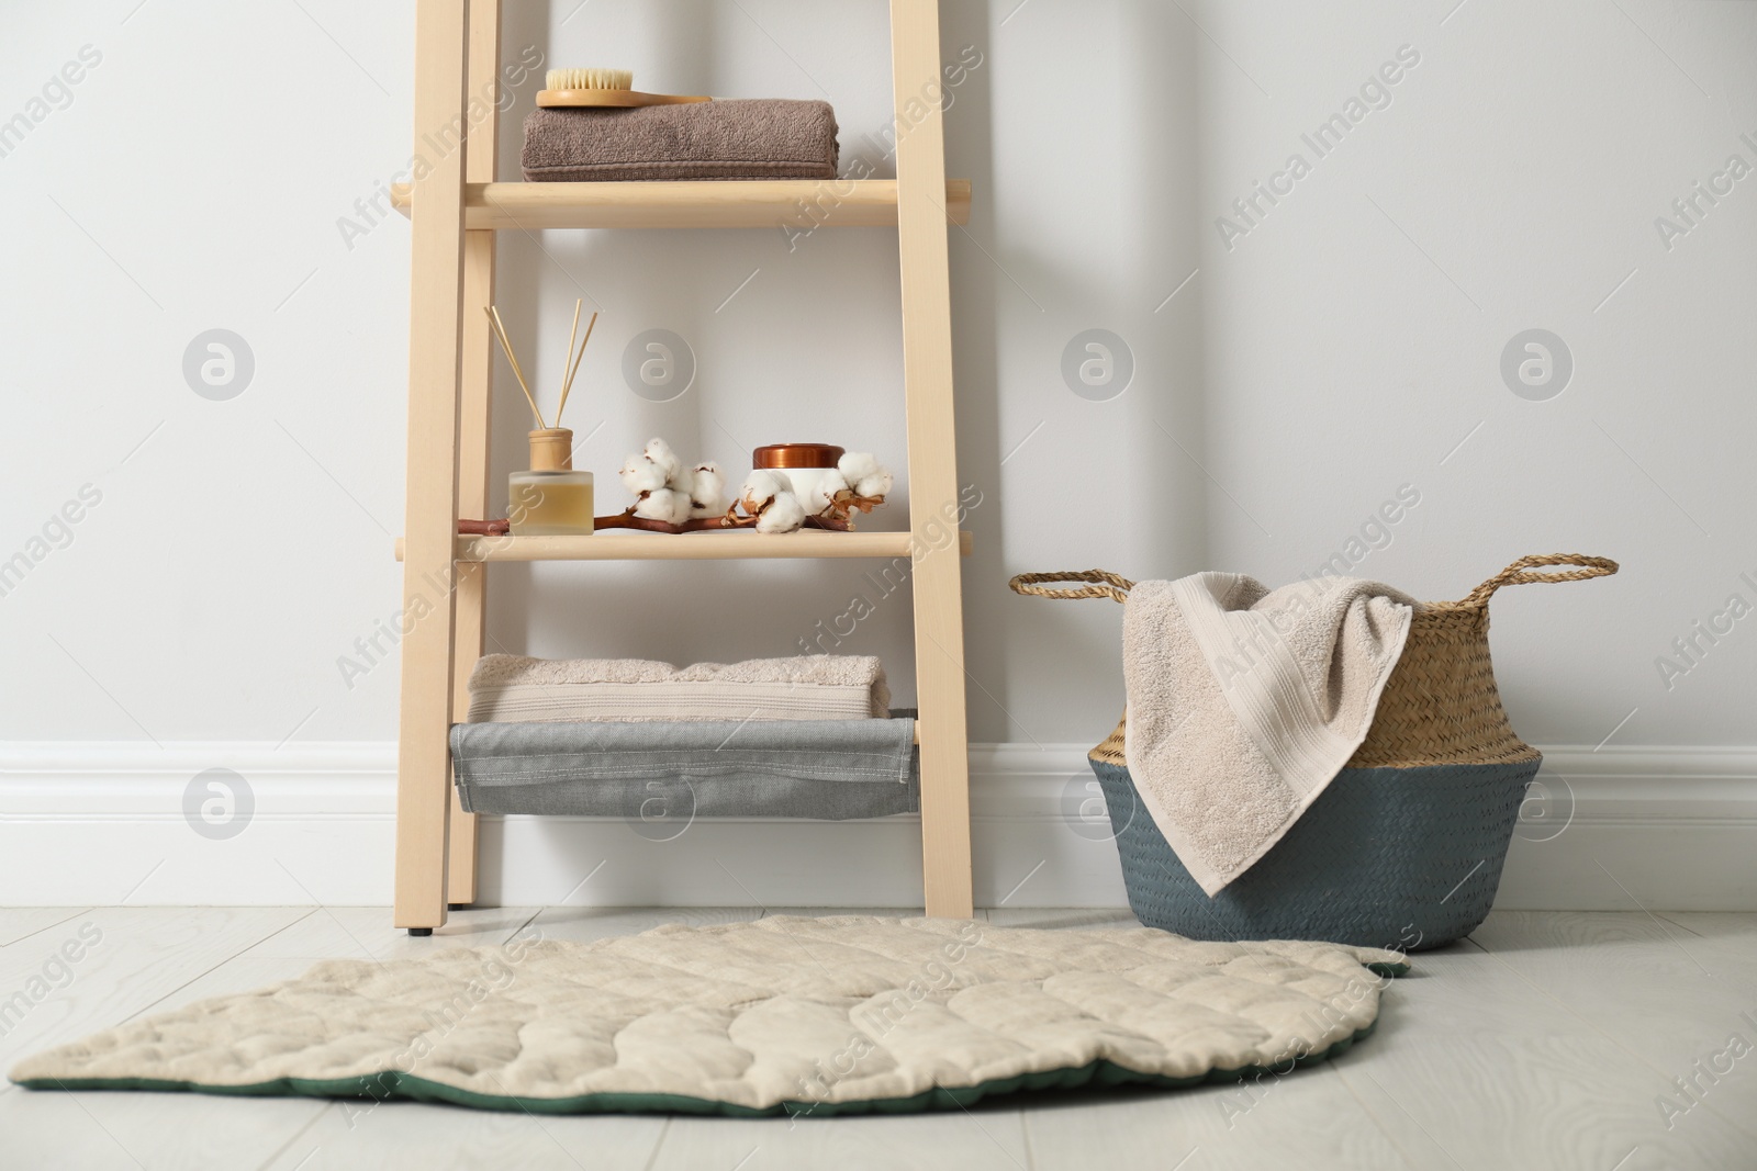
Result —
[[[757,915],[508,908],[455,915],[443,938],[415,941],[388,927],[385,909],[0,909],[0,1001],[83,927],[88,938],[102,930],[65,987],[0,1024],[0,1066],[141,1013],[293,976],[318,959],[490,945],[531,920],[552,939],[596,939]],[[1107,911],[986,916],[1133,922]],[[1748,1048],[1757,1046],[1757,915],[1504,913],[1414,962],[1416,974],[1388,992],[1376,1036],[1251,1090],[1040,1096],[794,1125],[420,1104],[360,1113],[313,1099],[7,1083],[0,1167],[1757,1167],[1757,1048]],[[1741,1045],[1729,1050],[1734,1036]],[[1694,1097],[1674,1078],[1694,1080]],[[1671,1118],[1666,1099],[1678,1104]]]

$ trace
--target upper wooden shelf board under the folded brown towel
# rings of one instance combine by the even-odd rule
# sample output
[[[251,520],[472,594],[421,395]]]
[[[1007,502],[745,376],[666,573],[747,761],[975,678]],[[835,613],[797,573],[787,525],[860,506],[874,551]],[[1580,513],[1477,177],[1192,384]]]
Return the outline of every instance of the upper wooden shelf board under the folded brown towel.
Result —
[[[390,188],[404,216],[409,184]],[[945,181],[945,214],[970,223],[970,179]],[[826,228],[896,226],[896,179],[682,183],[469,183],[469,228]]]

